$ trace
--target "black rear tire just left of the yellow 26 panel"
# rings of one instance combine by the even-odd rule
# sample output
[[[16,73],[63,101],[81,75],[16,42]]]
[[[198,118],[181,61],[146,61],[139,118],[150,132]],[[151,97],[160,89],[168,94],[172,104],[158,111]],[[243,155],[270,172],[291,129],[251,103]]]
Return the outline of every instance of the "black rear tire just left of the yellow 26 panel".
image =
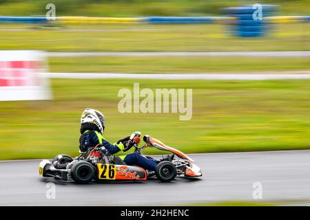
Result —
[[[92,181],[94,173],[94,166],[85,161],[76,162],[70,170],[72,179],[78,184],[87,184]]]

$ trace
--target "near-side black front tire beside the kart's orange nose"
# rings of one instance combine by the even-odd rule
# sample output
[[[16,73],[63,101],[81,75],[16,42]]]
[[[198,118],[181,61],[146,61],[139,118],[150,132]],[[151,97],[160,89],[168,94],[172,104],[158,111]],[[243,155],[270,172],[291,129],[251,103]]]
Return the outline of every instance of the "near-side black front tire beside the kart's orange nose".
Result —
[[[161,181],[172,181],[176,178],[176,167],[172,162],[163,161],[157,164],[155,174]]]

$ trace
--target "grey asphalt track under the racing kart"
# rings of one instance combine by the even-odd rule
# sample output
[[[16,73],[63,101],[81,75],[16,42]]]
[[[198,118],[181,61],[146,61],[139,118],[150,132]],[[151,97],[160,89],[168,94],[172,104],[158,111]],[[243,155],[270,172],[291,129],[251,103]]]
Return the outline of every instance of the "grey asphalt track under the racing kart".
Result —
[[[179,205],[218,201],[310,201],[310,151],[210,153],[191,155],[203,169],[200,179],[178,177],[170,183],[78,185],[39,176],[39,160],[0,162],[0,206]],[[47,199],[54,183],[56,198]],[[253,184],[262,184],[262,199]]]

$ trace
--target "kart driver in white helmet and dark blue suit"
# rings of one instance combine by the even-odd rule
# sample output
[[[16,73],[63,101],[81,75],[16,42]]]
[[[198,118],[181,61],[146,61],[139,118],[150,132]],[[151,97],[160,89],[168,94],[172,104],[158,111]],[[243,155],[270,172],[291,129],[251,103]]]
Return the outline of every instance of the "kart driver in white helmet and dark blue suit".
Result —
[[[103,137],[103,131],[105,130],[105,116],[100,111],[95,109],[85,109],[81,115],[81,137],[80,137],[80,150],[85,152],[87,148],[101,144],[111,154],[118,153],[131,148],[134,144],[140,142],[140,137],[134,137],[131,141],[130,137],[125,137],[122,140],[114,144],[110,144]],[[138,153],[130,153],[128,155],[120,156],[125,164],[132,166],[141,166],[147,170],[154,171],[158,160],[147,159]]]

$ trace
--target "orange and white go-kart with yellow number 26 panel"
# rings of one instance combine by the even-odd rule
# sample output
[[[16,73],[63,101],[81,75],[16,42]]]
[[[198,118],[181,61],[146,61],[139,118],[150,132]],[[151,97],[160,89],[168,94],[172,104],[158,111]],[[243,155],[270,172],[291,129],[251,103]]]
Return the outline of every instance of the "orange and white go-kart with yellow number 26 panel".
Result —
[[[130,140],[133,140],[136,135],[140,137],[141,133],[133,133]],[[143,149],[154,147],[172,153],[172,155],[168,155],[165,160],[157,164],[155,171],[145,170],[139,166],[128,166],[120,157],[110,155],[103,146],[97,145],[89,148],[86,152],[80,152],[79,157],[72,158],[69,155],[56,155],[52,161],[43,159],[39,164],[39,175],[65,181],[73,180],[78,184],[86,184],[93,180],[144,181],[153,176],[156,176],[161,181],[168,182],[175,179],[177,175],[184,177],[202,176],[200,168],[185,153],[167,146],[149,135],[145,135],[143,141],[145,144],[140,148],[134,144],[134,152],[143,155],[141,152]],[[152,158],[143,156],[149,159]]]

